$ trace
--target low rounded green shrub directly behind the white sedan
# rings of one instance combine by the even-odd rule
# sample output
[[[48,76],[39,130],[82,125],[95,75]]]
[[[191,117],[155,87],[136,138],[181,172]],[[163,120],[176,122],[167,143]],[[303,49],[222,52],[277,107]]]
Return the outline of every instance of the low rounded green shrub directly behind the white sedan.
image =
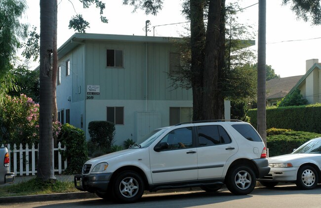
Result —
[[[279,133],[278,130],[280,130]],[[321,137],[319,133],[305,131],[292,131],[287,129],[269,129],[267,131],[274,131],[275,133],[267,136],[269,157],[290,154],[293,152],[293,149],[298,148],[310,139]]]

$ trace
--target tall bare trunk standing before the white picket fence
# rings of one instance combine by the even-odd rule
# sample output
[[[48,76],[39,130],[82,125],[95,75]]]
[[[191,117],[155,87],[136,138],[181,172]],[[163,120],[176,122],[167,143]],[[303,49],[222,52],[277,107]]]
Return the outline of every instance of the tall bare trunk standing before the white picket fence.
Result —
[[[40,0],[40,118],[37,177],[55,179],[52,157],[52,69],[53,0]]]

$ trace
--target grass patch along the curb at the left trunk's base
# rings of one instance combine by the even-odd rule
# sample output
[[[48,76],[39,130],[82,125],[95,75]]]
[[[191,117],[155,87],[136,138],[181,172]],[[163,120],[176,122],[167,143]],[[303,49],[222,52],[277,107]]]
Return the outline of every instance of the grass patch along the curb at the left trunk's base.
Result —
[[[58,180],[52,183],[43,182],[42,180],[36,177],[19,184],[1,186],[0,196],[13,197],[38,194],[68,193],[78,191],[79,190],[75,188],[74,182],[62,182]]]

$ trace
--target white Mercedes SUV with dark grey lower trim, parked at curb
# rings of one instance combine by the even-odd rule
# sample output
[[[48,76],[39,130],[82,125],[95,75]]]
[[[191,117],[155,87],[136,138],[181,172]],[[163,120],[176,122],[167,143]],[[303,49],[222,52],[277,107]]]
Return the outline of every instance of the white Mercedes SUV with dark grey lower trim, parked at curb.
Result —
[[[144,190],[200,186],[249,194],[270,167],[256,130],[238,120],[182,123],[155,129],[127,150],[87,161],[75,186],[104,199],[135,202]]]

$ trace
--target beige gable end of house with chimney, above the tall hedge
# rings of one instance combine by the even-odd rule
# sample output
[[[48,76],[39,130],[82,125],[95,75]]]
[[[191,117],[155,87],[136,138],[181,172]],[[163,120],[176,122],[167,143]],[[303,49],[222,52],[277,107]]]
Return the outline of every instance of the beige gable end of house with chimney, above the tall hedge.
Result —
[[[299,88],[303,98],[308,100],[309,104],[321,103],[321,63],[319,59],[306,60],[306,74],[291,88]]]

